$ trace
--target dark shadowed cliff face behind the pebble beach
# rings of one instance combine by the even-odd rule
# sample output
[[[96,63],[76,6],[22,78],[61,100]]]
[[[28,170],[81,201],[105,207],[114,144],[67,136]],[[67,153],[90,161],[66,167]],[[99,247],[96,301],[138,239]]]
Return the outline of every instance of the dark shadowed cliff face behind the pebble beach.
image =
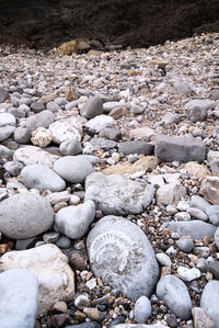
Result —
[[[218,0],[0,0],[0,43],[148,46],[219,31]]]

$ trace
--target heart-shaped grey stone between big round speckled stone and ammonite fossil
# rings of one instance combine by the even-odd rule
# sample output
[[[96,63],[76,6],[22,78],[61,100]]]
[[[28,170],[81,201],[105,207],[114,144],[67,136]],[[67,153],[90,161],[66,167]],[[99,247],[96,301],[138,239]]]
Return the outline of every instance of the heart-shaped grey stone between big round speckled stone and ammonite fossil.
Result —
[[[77,239],[85,235],[95,217],[95,205],[87,201],[78,206],[61,208],[55,217],[55,228],[65,236]]]

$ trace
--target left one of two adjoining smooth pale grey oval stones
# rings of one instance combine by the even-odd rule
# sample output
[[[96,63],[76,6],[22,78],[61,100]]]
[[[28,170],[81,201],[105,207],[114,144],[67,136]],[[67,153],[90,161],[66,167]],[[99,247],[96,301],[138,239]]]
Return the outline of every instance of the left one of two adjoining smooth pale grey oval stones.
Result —
[[[21,182],[28,189],[50,190],[53,192],[66,189],[66,182],[51,169],[41,165],[30,165],[23,168]]]

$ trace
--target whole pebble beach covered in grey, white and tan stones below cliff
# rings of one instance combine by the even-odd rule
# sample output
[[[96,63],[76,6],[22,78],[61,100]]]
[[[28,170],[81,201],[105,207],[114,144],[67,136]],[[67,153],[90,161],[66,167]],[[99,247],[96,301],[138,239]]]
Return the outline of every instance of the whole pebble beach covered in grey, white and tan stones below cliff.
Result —
[[[219,327],[218,64],[1,47],[1,327]]]

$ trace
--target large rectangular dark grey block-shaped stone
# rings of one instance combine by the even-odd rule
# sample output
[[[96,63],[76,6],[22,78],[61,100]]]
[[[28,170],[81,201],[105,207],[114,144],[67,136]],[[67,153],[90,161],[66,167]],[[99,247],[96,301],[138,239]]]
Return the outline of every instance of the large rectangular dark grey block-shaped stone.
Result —
[[[160,135],[155,139],[154,154],[164,161],[204,161],[206,158],[206,145],[191,136]]]

